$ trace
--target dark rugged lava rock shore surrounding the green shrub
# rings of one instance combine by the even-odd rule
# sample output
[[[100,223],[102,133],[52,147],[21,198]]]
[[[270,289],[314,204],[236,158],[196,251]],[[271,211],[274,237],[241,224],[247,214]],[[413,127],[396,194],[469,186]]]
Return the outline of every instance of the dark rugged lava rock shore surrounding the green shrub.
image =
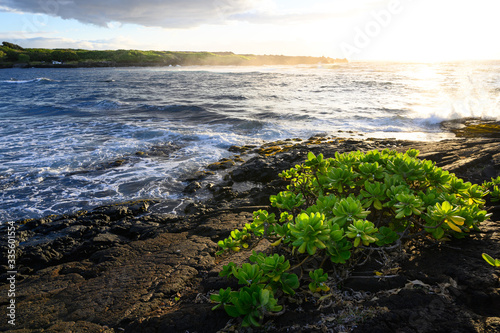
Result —
[[[426,143],[316,137],[233,148],[244,158],[238,155],[234,165],[225,162],[230,168],[216,171],[226,177],[212,186],[213,198],[190,205],[186,215],[151,213],[150,206],[156,202],[143,200],[18,221],[16,325],[8,324],[2,315],[0,329],[23,333],[237,331],[236,320],[224,311],[211,311],[209,295],[230,286],[218,276],[222,265],[245,262],[249,252],[217,257],[217,241],[250,222],[254,210],[270,209],[269,195],[285,186],[278,173],[302,162],[308,151],[331,157],[337,151],[384,148],[418,149],[420,158],[474,183],[500,175],[500,139],[495,138]],[[244,189],[238,190],[241,184]],[[488,209],[493,216],[481,232],[412,248],[394,278],[354,276],[339,290],[342,302],[317,304],[303,297],[301,304],[287,304],[284,314],[270,317],[262,330],[500,331],[500,270],[481,258],[482,252],[500,257],[500,206],[489,203]],[[7,253],[7,232],[1,230],[2,251]],[[268,246],[261,241],[254,249],[265,251]],[[0,293],[7,295],[7,261],[4,256],[1,260]],[[6,309],[7,298],[0,302]]]

